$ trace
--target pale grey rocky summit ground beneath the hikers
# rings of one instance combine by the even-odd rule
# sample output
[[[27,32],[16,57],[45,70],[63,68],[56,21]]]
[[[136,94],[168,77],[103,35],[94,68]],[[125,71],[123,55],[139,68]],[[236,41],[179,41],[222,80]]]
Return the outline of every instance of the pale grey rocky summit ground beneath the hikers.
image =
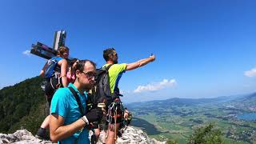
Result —
[[[92,132],[90,132],[90,135]],[[98,144],[102,144],[103,138],[100,135]],[[0,134],[0,144],[2,143],[14,143],[14,144],[47,144],[53,143],[50,141],[41,140],[35,138],[28,130],[17,130],[14,134]],[[149,138],[146,133],[133,126],[127,126],[122,133],[122,137],[118,138],[117,144],[139,143],[139,144],[164,144],[166,142],[159,142],[154,138]]]

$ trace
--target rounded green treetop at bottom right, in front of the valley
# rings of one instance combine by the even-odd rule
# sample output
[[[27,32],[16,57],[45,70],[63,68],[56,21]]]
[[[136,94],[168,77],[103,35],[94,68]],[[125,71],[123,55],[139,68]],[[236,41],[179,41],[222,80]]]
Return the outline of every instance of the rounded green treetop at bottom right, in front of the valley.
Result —
[[[189,143],[201,144],[201,143],[223,143],[222,132],[217,129],[213,123],[206,126],[198,127],[190,135]]]

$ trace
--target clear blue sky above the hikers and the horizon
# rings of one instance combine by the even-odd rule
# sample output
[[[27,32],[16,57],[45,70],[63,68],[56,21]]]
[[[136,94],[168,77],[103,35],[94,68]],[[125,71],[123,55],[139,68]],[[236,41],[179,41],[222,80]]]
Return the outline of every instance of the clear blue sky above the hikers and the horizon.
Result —
[[[106,47],[120,63],[156,54],[123,74],[125,102],[252,93],[255,7],[253,0],[1,1],[0,88],[37,76],[46,60],[26,50],[52,46],[54,31],[66,30],[70,55],[98,66]]]

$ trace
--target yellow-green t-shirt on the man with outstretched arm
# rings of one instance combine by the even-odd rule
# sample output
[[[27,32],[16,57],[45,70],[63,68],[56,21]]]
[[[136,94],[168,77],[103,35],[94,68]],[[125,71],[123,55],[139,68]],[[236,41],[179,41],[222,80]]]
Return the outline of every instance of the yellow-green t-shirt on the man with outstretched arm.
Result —
[[[109,66],[110,64],[106,64],[102,67]],[[114,89],[118,88],[118,82],[122,77],[122,74],[126,72],[126,63],[122,64],[114,64],[109,69],[110,76],[110,90],[111,93],[114,93]]]

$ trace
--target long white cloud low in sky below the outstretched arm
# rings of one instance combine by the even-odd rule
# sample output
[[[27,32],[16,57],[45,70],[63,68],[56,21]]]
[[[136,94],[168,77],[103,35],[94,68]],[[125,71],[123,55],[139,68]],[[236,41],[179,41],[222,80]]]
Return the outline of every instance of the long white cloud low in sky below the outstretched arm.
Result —
[[[146,91],[156,91],[156,90],[162,90],[166,87],[172,87],[175,86],[177,82],[175,79],[163,79],[162,82],[154,82],[151,84],[148,84],[146,86],[138,86],[136,90],[134,90],[134,93],[141,93]]]

